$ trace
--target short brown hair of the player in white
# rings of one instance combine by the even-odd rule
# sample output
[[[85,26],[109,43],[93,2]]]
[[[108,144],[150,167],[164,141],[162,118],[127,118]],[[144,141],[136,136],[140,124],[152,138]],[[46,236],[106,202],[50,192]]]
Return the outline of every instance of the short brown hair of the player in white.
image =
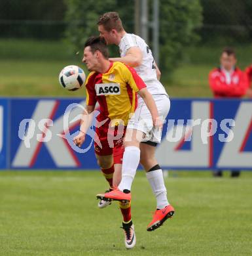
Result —
[[[120,20],[119,14],[117,12],[105,12],[99,17],[97,24],[103,25],[107,32],[110,32],[111,30],[122,32],[122,30],[124,30],[122,21]]]

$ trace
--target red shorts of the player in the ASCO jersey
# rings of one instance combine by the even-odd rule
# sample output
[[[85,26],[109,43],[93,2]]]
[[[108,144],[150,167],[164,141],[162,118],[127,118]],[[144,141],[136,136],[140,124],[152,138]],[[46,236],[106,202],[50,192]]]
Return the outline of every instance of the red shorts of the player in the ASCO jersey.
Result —
[[[126,126],[109,127],[109,121],[96,127],[94,151],[98,156],[112,155],[114,163],[122,163],[124,153],[123,139]]]

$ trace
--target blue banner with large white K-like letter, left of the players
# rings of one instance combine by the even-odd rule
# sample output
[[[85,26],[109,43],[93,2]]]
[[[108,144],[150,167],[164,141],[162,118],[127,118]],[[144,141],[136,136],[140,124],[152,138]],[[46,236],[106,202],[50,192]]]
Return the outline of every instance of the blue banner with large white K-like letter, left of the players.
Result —
[[[71,104],[77,106],[68,111]],[[82,106],[83,99],[13,99],[10,167],[98,169],[92,138],[86,137],[82,150],[73,144],[73,137],[79,131]]]

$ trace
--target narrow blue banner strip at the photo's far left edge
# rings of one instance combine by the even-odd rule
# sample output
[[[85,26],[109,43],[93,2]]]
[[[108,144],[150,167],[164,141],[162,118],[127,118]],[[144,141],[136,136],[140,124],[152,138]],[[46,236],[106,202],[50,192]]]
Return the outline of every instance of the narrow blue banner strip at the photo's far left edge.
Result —
[[[8,165],[7,131],[9,127],[8,100],[0,98],[0,169],[6,169]]]

